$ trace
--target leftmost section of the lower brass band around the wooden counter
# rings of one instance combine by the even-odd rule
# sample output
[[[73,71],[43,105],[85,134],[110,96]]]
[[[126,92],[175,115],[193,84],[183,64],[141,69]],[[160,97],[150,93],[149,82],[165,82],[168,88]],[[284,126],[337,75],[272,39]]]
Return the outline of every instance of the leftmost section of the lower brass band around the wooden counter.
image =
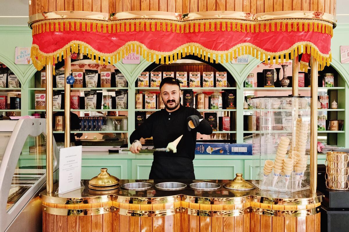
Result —
[[[47,206],[42,206],[42,210],[48,214],[60,215],[60,216],[88,216],[107,214],[116,211],[114,206],[92,208],[92,209],[57,209]]]

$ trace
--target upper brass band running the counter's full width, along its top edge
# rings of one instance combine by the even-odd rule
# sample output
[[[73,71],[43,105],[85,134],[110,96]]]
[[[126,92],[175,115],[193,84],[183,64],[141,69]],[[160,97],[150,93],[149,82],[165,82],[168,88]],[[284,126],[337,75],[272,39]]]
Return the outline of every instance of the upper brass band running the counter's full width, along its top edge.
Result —
[[[247,197],[234,197],[234,198],[205,198],[205,197],[193,197],[189,195],[174,195],[168,197],[155,197],[155,198],[140,198],[140,197],[124,197],[119,195],[101,195],[88,198],[60,198],[39,194],[40,200],[47,203],[54,203],[60,205],[74,205],[74,204],[91,204],[102,203],[107,201],[116,201],[119,203],[127,204],[165,204],[174,203],[179,201],[198,203],[203,205],[234,205],[243,204],[246,202],[265,203],[270,205],[288,205],[288,206],[300,206],[311,205],[322,202],[322,195],[318,195],[313,198],[299,198],[299,199],[283,199],[283,198],[268,198],[249,195]]]

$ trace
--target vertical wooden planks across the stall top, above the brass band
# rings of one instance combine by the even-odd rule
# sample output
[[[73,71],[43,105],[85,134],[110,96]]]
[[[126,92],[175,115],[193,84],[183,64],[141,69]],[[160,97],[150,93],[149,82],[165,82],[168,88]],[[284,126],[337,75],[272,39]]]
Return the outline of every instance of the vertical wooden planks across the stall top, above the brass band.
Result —
[[[121,11],[151,10],[189,13],[196,11],[270,11],[311,10],[335,14],[335,0],[31,0],[29,15],[47,11]]]

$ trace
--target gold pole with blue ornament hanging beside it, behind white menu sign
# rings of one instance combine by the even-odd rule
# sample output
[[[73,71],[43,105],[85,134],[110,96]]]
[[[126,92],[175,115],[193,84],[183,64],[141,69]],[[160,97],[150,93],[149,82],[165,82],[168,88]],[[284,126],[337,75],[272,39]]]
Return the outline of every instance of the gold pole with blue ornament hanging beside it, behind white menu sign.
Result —
[[[67,77],[70,75],[70,49],[67,50],[64,60],[64,147],[70,147],[70,85]]]

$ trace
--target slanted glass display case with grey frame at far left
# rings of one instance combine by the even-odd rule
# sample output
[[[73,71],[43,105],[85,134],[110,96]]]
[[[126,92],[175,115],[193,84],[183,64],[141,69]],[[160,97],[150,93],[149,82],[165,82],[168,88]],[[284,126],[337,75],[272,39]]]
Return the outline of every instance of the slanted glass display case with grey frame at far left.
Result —
[[[38,225],[32,225],[37,223],[30,221],[42,215],[38,194],[46,186],[46,120],[2,120],[0,128],[0,231],[15,231],[10,227],[18,229],[19,224],[26,226],[24,231],[28,226],[37,231]],[[53,148],[57,175],[55,142]],[[24,213],[28,210],[30,214]]]

